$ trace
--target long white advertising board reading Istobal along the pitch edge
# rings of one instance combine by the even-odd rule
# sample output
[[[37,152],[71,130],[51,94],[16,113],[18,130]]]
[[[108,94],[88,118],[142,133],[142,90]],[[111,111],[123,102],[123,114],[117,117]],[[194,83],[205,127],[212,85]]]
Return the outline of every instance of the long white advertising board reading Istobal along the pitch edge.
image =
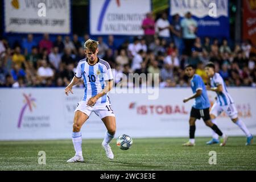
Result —
[[[256,134],[256,89],[228,88],[236,102],[239,117]],[[65,96],[63,88],[0,89],[0,140],[68,139],[72,134],[73,111],[83,89]],[[182,102],[190,88],[160,89],[156,100],[146,93],[111,93],[117,119],[116,135],[131,137],[188,137],[188,119],[193,101]],[[215,94],[209,92],[213,104]],[[218,126],[226,134],[243,135],[237,125],[222,114]],[[96,114],[82,127],[83,138],[103,138],[105,126]],[[202,120],[196,123],[196,136],[210,136],[212,130]]]

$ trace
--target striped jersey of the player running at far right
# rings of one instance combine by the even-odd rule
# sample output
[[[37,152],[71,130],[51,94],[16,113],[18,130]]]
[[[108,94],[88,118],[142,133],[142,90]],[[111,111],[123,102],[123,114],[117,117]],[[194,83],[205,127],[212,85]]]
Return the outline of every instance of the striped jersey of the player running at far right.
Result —
[[[217,93],[217,104],[220,106],[226,106],[229,104],[233,104],[233,98],[228,93],[226,89],[226,84],[219,73],[214,73],[213,77],[210,78],[210,86],[217,87],[218,85],[222,85],[222,93]]]

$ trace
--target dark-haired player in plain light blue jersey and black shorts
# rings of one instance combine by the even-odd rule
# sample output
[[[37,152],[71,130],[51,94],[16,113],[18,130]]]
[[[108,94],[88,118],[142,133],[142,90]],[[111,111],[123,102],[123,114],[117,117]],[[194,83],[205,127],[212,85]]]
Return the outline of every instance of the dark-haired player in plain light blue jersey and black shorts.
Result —
[[[210,121],[210,102],[203,79],[199,75],[195,74],[195,68],[193,68],[193,65],[186,65],[185,74],[191,78],[191,89],[193,91],[193,95],[191,97],[184,98],[183,102],[185,103],[195,98],[195,103],[192,106],[189,118],[189,141],[184,143],[183,146],[195,146],[196,119],[200,118],[203,118],[205,125],[209,126],[213,131],[220,135],[220,137],[222,137],[221,146],[225,146],[228,137],[218,129],[217,125]]]

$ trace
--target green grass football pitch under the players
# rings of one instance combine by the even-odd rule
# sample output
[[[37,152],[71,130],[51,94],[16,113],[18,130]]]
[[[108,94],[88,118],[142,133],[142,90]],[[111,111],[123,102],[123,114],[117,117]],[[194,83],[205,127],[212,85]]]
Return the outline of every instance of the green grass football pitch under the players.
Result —
[[[183,147],[187,138],[133,139],[122,151],[112,141],[114,160],[106,158],[99,139],[84,139],[84,163],[67,163],[73,157],[72,140],[0,142],[0,170],[255,170],[256,144],[245,146],[245,137],[229,137],[225,147],[207,146],[210,138],[196,138],[195,147]],[[38,152],[46,152],[46,165],[38,164]],[[217,164],[209,164],[209,151],[217,152]]]

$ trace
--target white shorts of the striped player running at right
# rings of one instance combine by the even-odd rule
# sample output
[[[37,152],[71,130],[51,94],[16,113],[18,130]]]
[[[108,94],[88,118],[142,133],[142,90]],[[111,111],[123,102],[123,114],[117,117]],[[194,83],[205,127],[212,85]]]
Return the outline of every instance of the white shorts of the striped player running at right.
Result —
[[[225,111],[226,115],[228,115],[231,119],[235,119],[238,117],[237,109],[234,104],[220,106],[217,104],[217,102],[215,102],[212,108],[210,109],[210,114],[213,114],[216,117],[218,117],[218,115],[220,115],[223,111]]]

